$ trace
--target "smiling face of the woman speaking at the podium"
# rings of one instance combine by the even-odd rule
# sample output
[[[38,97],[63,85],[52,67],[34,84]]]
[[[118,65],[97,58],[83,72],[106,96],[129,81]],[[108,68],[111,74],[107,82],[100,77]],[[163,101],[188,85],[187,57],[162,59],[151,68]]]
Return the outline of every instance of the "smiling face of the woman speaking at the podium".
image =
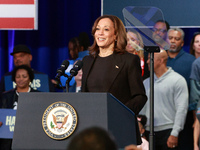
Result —
[[[109,18],[101,19],[94,34],[99,49],[112,49],[116,40],[114,24]]]

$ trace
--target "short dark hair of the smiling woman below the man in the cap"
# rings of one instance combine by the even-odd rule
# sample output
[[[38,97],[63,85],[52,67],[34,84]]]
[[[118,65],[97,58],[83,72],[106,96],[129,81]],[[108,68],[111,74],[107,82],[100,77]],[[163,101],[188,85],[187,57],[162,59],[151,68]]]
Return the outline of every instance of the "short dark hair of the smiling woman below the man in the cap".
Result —
[[[26,71],[28,72],[30,81],[31,81],[31,82],[33,81],[33,79],[34,79],[34,72],[33,72],[33,70],[32,70],[29,66],[27,66],[27,65],[20,65],[20,66],[17,66],[17,67],[15,67],[15,68],[13,69],[13,71],[12,71],[12,81],[15,82],[16,72],[17,72],[17,70],[19,70],[19,69],[24,69],[24,70],[26,70]]]

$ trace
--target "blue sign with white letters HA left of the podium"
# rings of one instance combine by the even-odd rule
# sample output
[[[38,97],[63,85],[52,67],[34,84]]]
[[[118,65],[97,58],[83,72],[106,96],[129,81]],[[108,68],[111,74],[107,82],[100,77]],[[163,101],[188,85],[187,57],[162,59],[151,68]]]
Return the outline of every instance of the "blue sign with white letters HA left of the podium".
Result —
[[[0,127],[0,138],[12,139],[15,127],[16,110],[0,109],[0,121],[3,123]]]

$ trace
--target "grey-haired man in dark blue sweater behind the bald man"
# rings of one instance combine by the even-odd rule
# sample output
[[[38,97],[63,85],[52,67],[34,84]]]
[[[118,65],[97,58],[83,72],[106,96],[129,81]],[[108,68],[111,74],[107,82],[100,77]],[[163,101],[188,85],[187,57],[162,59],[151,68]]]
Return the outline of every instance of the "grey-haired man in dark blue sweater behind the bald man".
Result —
[[[168,50],[167,66],[182,75],[187,81],[190,90],[190,73],[195,57],[183,50],[185,33],[180,28],[173,28],[168,31]],[[188,111],[184,130],[181,132],[181,150],[193,149],[193,123],[195,116],[193,111]]]

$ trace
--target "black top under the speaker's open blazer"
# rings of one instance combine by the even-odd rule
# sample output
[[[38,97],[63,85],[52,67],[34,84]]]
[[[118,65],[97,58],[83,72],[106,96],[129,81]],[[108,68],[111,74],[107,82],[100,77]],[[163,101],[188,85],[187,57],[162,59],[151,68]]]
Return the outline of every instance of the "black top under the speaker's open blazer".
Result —
[[[111,84],[109,80],[112,74],[110,68],[113,66],[111,56],[97,56],[87,80],[89,92],[107,92],[107,87]]]

